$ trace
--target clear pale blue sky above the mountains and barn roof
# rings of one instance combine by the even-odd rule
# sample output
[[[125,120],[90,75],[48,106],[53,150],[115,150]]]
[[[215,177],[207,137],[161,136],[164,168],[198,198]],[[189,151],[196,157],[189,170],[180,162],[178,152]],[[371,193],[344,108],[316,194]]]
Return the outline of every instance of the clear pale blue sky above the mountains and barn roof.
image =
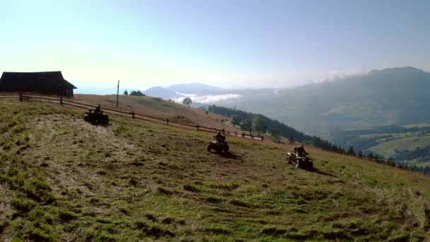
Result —
[[[78,88],[285,88],[430,71],[427,0],[0,0],[0,9],[0,71],[58,70]]]

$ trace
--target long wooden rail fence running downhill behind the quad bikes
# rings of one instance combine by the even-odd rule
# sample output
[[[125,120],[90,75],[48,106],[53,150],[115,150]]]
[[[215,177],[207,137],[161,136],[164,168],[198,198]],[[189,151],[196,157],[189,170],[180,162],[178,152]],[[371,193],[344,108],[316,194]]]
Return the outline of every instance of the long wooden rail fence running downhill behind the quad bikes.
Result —
[[[90,108],[96,107],[95,105],[91,105],[88,103],[74,102],[73,100],[71,100],[71,98],[48,96],[48,95],[42,95],[42,94],[37,94],[37,93],[0,93],[0,98],[18,98],[21,102],[23,100],[29,100],[29,99],[43,100],[43,101],[49,101],[50,103],[58,103],[60,105],[69,105],[69,106],[72,106],[75,108],[83,108],[83,109],[87,109],[87,110]],[[104,113],[108,113],[111,115],[118,115],[121,117],[129,117],[129,118],[136,119],[136,120],[145,120],[145,121],[149,121],[149,122],[157,122],[157,123],[160,123],[163,125],[174,125],[177,127],[182,127],[182,128],[187,128],[187,129],[197,129],[199,131],[204,131],[204,132],[212,132],[212,133],[222,132],[225,135],[230,135],[233,137],[241,137],[244,139],[255,139],[255,140],[259,140],[259,141],[264,140],[264,138],[262,136],[253,136],[250,134],[245,134],[245,132],[238,134],[236,131],[231,132],[231,131],[226,130],[226,129],[217,129],[214,127],[205,127],[205,126],[202,126],[199,124],[190,125],[190,124],[186,124],[183,122],[177,122],[174,120],[169,120],[168,118],[164,119],[161,117],[154,117],[151,115],[134,113],[134,111],[125,112],[123,110],[115,110],[115,109],[103,108],[103,107],[102,107],[102,109],[103,109]]]

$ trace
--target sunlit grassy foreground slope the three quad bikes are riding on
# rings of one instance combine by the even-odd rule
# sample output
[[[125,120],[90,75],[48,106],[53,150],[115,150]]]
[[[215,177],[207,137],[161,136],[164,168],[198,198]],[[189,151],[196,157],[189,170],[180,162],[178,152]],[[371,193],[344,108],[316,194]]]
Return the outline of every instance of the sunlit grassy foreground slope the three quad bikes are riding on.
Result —
[[[430,178],[308,148],[0,103],[0,241],[423,241]]]

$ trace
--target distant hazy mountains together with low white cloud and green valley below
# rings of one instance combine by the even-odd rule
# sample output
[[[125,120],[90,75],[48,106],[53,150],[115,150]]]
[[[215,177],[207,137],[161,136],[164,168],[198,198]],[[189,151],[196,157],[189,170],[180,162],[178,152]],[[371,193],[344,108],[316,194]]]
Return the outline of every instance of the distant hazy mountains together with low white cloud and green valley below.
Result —
[[[296,88],[233,90],[189,83],[148,91],[150,96],[178,102],[189,96],[195,107],[215,104],[261,113],[306,134],[388,158],[396,150],[430,146],[430,134],[424,129],[398,132],[405,125],[430,122],[429,90],[429,72],[396,67]],[[385,127],[397,131],[381,133]]]

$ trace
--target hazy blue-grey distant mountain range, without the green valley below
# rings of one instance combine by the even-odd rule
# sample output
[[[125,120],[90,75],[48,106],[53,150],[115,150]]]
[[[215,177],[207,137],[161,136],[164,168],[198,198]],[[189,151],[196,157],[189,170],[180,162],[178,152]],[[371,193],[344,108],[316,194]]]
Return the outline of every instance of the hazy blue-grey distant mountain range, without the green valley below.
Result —
[[[430,73],[398,67],[288,89],[228,90],[190,83],[148,91],[150,96],[164,99],[236,94],[236,98],[211,104],[262,113],[315,132],[321,127],[353,129],[428,122],[429,90]]]

